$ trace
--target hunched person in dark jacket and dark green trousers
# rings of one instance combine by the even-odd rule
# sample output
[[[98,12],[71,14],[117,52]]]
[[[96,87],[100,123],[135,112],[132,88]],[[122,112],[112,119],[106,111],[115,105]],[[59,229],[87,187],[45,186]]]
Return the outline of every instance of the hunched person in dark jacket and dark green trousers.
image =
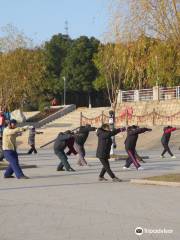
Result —
[[[57,167],[57,171],[64,171],[64,167],[66,171],[72,171],[75,170],[70,166],[68,162],[67,155],[65,154],[64,150],[67,147],[67,140],[73,137],[73,133],[70,131],[66,132],[60,132],[54,142],[54,153],[58,156],[60,159],[60,163]]]

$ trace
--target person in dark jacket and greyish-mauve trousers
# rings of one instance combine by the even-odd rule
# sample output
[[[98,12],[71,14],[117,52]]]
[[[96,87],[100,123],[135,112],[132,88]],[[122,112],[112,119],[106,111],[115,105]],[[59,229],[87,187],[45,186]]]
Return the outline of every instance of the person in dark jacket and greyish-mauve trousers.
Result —
[[[74,142],[74,148],[76,152],[78,153],[78,165],[84,166],[87,165],[87,162],[85,160],[85,148],[84,144],[89,136],[89,132],[95,131],[95,127],[91,127],[91,125],[81,126],[79,128],[79,131],[75,134],[75,142]]]

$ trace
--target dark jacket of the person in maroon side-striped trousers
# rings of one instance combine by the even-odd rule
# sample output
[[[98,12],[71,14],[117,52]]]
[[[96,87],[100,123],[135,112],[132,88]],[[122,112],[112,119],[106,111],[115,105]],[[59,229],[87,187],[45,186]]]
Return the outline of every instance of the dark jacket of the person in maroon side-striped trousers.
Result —
[[[150,130],[151,129],[149,128],[136,128],[136,129],[127,130],[127,137],[124,142],[126,150],[135,151],[138,135]]]

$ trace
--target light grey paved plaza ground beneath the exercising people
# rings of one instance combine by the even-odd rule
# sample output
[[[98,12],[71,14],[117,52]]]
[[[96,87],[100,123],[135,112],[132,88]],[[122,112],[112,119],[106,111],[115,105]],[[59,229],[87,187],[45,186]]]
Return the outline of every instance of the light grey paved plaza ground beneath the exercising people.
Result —
[[[0,179],[0,240],[134,240],[180,239],[180,188],[129,183],[131,178],[180,172],[177,159],[160,159],[144,152],[146,170],[124,172],[123,161],[111,162],[123,183],[99,183],[101,165],[89,158],[90,167],[75,173],[56,172],[57,158],[50,150],[21,156],[29,180]],[[93,152],[89,152],[89,157]],[[2,175],[2,173],[1,173]],[[172,234],[135,235],[136,227],[172,229]]]

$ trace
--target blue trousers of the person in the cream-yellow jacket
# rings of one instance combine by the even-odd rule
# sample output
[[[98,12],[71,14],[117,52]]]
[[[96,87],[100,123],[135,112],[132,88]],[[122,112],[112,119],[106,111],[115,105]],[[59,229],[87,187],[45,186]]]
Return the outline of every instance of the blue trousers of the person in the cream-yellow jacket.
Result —
[[[18,154],[16,151],[13,150],[5,150],[4,157],[9,162],[9,165],[4,173],[5,177],[11,176],[15,173],[17,178],[24,176],[22,169],[19,165]]]

